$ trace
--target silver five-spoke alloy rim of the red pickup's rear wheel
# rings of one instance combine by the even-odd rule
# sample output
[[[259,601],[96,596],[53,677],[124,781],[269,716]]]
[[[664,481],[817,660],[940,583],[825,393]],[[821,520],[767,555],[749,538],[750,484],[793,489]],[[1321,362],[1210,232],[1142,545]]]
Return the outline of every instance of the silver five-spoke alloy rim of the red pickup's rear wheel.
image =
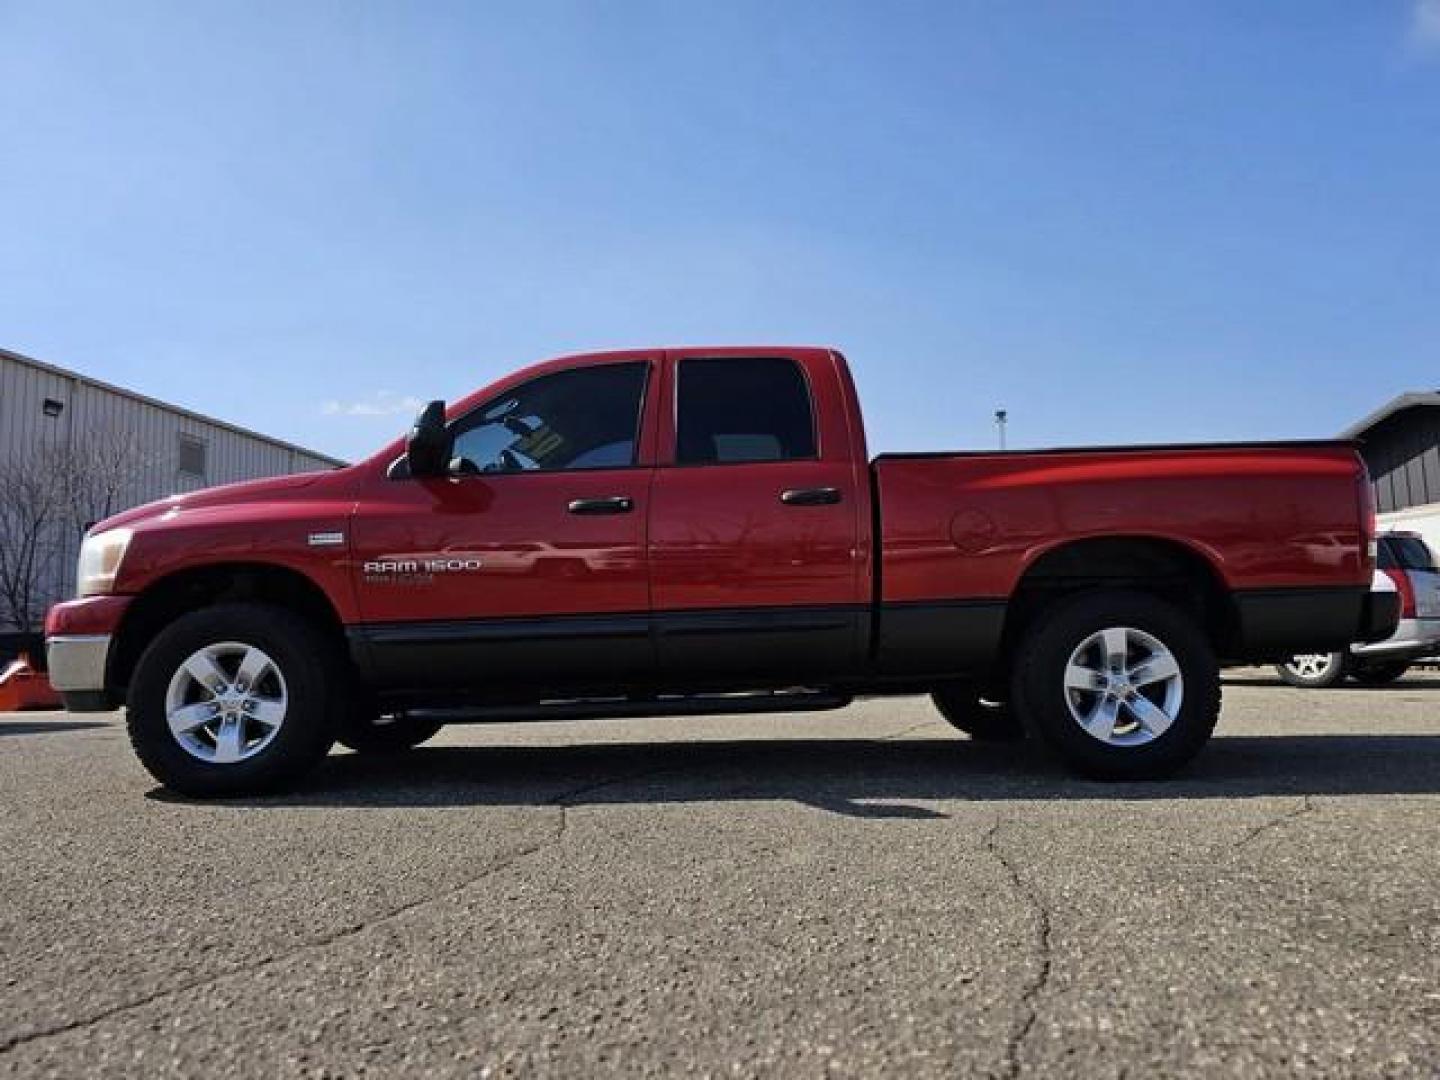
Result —
[[[1064,674],[1070,716],[1110,746],[1143,746],[1169,730],[1185,698],[1179,661],[1165,642],[1109,626],[1080,642]]]

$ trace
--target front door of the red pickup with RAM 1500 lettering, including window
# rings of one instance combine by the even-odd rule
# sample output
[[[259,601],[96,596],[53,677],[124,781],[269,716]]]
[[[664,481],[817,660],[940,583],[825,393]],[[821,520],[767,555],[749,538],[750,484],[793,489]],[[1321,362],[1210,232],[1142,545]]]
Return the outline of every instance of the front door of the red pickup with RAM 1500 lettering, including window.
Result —
[[[354,517],[360,648],[389,688],[647,678],[647,389],[658,361],[549,372],[452,420],[452,475],[403,462]]]

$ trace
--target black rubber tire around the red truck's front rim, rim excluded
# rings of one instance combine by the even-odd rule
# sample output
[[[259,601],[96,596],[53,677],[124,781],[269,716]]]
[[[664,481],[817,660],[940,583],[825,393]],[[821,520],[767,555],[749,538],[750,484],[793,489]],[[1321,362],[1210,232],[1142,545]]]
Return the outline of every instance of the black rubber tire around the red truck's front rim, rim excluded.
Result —
[[[268,654],[287,696],[271,742],[253,756],[223,765],[187,752],[166,716],[171,678],[187,658],[220,642]],[[166,626],[135,665],[127,698],[130,742],[150,775],[181,795],[209,799],[282,791],[330,750],[343,683],[334,644],[294,612],[261,603],[203,608]]]

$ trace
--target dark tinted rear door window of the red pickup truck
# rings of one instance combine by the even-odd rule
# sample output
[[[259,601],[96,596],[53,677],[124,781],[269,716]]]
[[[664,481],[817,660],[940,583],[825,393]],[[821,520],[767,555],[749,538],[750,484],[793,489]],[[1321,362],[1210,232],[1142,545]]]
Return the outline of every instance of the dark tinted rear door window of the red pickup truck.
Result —
[[[815,456],[809,387],[793,360],[681,360],[681,465]]]

